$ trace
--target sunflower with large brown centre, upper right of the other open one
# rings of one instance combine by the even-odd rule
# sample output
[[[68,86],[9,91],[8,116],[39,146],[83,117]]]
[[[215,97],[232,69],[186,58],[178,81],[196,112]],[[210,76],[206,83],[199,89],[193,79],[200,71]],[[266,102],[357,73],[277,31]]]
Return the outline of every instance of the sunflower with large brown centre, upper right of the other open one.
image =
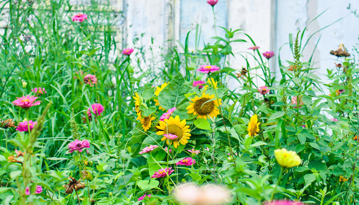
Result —
[[[216,117],[220,114],[220,110],[218,107],[222,105],[221,99],[213,99],[214,95],[209,95],[206,93],[202,94],[202,97],[196,96],[191,99],[193,103],[189,103],[187,106],[188,114],[193,113],[193,115],[197,115],[198,118],[207,119],[207,115],[211,118]]]

